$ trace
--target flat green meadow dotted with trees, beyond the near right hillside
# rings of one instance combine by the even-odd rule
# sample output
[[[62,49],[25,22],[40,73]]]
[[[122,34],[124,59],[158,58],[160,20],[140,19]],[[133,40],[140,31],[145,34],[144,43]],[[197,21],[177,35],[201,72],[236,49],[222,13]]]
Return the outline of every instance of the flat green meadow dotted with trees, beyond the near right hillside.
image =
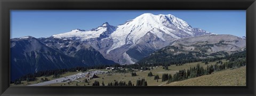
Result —
[[[226,60],[222,60],[222,62],[226,62]],[[136,71],[136,74],[138,76],[131,76],[131,73],[114,73],[111,76],[107,76],[107,74],[100,74],[97,75],[99,76],[99,78],[94,78],[92,80],[89,81],[90,85],[87,85],[88,83],[84,83],[84,82],[72,82],[72,83],[55,83],[55,84],[50,84],[50,85],[46,85],[46,86],[76,86],[76,83],[78,86],[91,86],[92,83],[97,80],[100,82],[100,85],[102,83],[102,81],[105,83],[105,85],[107,85],[109,82],[113,82],[114,80],[116,81],[125,81],[126,83],[128,81],[131,81],[134,85],[136,85],[137,79],[141,79],[141,78],[145,78],[147,81],[148,86],[158,86],[158,85],[165,85],[165,82],[161,82],[162,79],[158,79],[158,82],[156,80],[154,80],[154,76],[152,77],[148,77],[148,73],[149,71],[151,71],[153,73],[153,75],[159,75],[160,78],[162,78],[162,74],[163,73],[167,73],[167,74],[175,74],[176,72],[178,72],[181,69],[189,69],[190,67],[194,67],[197,65],[197,63],[200,64],[200,66],[204,66],[206,67],[206,65],[202,62],[192,62],[192,63],[186,63],[183,66],[175,66],[175,65],[171,65],[169,66],[169,70],[165,70],[163,69],[162,66],[155,68],[154,70],[146,70],[146,71]],[[210,64],[214,65],[216,62],[209,62]],[[102,79],[104,78],[104,79]],[[78,79],[79,81],[83,81],[84,78]]]

